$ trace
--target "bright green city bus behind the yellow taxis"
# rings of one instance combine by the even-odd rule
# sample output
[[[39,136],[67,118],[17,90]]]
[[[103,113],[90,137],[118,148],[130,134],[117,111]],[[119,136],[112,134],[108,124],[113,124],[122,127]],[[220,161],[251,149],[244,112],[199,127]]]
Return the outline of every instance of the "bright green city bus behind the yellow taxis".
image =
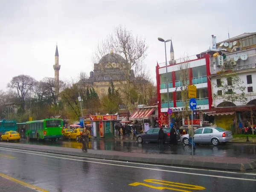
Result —
[[[38,121],[26,122],[26,137],[28,140],[56,140],[63,137],[62,119],[43,119]]]

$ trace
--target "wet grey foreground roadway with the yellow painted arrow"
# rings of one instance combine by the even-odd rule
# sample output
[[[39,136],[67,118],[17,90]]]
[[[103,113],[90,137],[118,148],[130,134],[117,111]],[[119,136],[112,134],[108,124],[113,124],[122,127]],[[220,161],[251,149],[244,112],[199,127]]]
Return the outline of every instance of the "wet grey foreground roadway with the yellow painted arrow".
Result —
[[[0,148],[0,154],[1,173],[50,192],[254,192],[256,188],[256,172],[182,169],[8,148]]]

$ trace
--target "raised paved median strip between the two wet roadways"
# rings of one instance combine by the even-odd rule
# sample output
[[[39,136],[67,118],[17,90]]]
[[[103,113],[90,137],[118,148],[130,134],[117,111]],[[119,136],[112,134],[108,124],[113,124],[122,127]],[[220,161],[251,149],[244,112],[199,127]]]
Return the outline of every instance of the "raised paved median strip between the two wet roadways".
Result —
[[[147,163],[166,166],[197,167],[204,169],[221,169],[245,171],[256,168],[256,157],[214,157],[214,156],[191,156],[179,154],[143,154],[120,151],[105,151],[88,149],[82,152],[81,149],[54,147],[47,145],[29,145],[20,143],[0,143],[0,147],[17,148],[30,151],[40,151],[53,154],[72,155],[77,157],[89,157],[105,160],[128,161],[134,163]]]

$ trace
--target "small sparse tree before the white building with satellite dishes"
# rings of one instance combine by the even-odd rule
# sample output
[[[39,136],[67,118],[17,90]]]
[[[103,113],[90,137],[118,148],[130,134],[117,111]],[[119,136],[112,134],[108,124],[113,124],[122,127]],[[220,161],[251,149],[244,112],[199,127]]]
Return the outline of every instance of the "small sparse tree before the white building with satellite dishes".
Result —
[[[214,93],[215,99],[221,99],[226,106],[233,108],[235,113],[236,121],[236,134],[238,133],[237,126],[237,116],[236,116],[236,102],[246,103],[247,97],[245,97],[245,86],[242,86],[244,81],[242,81],[236,73],[231,73],[228,75],[220,76],[220,83],[215,84],[215,87],[218,88],[218,92]],[[224,106],[223,106],[224,107]]]

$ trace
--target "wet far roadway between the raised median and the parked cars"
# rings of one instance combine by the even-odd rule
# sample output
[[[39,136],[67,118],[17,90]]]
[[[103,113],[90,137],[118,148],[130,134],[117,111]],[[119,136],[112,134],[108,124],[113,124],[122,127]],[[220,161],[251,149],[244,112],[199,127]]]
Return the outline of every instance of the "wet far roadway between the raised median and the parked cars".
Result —
[[[44,141],[37,142],[36,140],[28,141],[20,140],[20,143],[31,145],[51,145],[71,148],[81,148],[82,144],[72,140]],[[95,150],[111,150],[136,153],[153,153],[153,154],[186,154],[190,155],[192,150],[189,146],[184,146],[182,143],[171,145],[166,143],[142,143],[135,141],[119,141],[119,140],[90,140],[89,148]],[[256,145],[246,144],[225,144],[225,145],[196,145],[195,155],[203,156],[220,156],[220,157],[251,157],[256,158]]]

